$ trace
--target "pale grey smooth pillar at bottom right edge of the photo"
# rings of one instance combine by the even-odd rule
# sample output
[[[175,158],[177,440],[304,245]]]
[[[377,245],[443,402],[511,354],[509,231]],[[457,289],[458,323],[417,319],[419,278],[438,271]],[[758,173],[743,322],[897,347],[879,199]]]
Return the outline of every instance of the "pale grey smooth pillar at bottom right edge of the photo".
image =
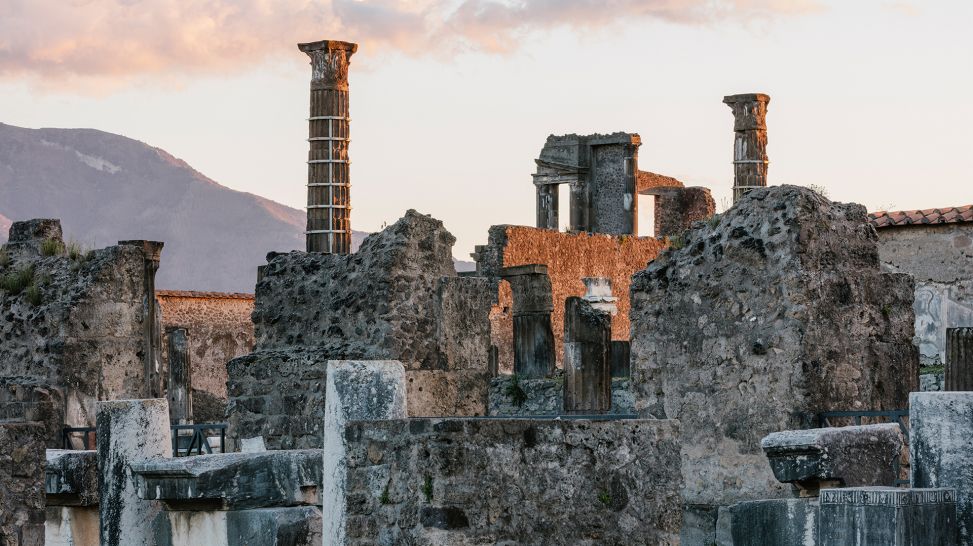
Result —
[[[973,392],[909,395],[912,487],[957,492],[959,544],[973,545]]]

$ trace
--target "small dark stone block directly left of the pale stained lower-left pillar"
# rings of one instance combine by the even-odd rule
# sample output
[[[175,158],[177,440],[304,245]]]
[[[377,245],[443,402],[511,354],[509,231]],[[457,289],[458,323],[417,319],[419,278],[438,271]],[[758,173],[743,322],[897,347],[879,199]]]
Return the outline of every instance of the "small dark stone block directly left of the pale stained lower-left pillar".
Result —
[[[98,457],[94,450],[48,449],[44,472],[48,506],[96,506]]]

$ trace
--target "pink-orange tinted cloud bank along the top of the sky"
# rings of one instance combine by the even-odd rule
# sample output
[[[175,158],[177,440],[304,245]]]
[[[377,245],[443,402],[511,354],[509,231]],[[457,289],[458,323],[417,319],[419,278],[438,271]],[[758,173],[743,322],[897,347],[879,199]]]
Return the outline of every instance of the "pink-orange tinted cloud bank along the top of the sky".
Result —
[[[322,38],[409,55],[515,49],[535,30],[633,19],[705,24],[816,0],[2,0],[0,78],[233,72]]]

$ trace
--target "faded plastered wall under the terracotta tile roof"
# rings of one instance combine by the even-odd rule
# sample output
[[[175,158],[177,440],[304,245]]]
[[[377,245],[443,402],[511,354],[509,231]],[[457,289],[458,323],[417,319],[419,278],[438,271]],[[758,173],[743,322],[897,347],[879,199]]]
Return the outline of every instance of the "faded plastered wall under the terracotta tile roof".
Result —
[[[973,222],[883,227],[878,239],[882,268],[916,279],[920,363],[942,366],[946,328],[973,325]]]

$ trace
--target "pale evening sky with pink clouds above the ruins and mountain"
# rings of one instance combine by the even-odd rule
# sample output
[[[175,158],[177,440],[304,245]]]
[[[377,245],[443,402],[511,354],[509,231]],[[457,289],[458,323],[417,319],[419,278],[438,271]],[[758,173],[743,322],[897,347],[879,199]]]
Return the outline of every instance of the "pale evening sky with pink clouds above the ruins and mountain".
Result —
[[[770,184],[973,203],[971,29],[969,0],[0,0],[0,122],[122,134],[302,208],[295,44],[356,41],[352,226],[414,208],[469,259],[533,225],[549,134],[639,133],[640,169],[726,208],[735,93],[771,96]]]

